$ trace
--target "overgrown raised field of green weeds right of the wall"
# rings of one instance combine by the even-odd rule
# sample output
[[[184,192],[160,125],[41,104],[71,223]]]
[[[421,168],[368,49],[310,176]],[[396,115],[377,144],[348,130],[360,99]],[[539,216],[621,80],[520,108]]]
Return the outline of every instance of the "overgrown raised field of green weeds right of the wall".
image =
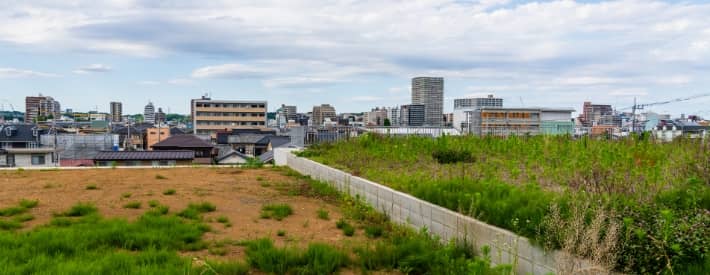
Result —
[[[585,227],[597,214],[621,225],[612,241],[619,271],[668,272],[668,258],[675,269],[702,266],[708,255],[708,141],[365,135],[301,155],[548,248],[569,237],[556,224],[572,223],[572,210],[585,207]],[[550,222],[553,208],[560,214]]]

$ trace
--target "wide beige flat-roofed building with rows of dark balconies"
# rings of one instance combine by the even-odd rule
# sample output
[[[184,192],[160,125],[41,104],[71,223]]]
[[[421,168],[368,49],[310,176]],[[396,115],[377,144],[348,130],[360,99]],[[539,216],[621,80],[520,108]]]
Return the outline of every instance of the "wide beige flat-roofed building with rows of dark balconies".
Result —
[[[203,96],[190,104],[194,133],[216,137],[218,131],[266,127],[266,101],[213,100]]]

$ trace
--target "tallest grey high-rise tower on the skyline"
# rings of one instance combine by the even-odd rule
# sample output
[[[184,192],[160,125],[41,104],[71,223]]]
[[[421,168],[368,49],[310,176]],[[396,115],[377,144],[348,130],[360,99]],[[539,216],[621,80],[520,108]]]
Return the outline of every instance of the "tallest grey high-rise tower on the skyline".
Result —
[[[424,125],[444,124],[444,78],[412,78],[412,104],[424,105]]]

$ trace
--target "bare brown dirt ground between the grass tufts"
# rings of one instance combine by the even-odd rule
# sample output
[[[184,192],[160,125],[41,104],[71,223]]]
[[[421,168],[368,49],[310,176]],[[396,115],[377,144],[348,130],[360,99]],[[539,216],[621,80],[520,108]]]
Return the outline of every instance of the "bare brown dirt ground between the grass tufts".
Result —
[[[164,177],[164,179],[160,179]],[[23,230],[46,224],[53,213],[69,209],[77,202],[91,202],[107,218],[135,219],[149,209],[148,201],[156,200],[175,213],[191,202],[210,202],[217,211],[204,215],[213,232],[206,241],[250,240],[270,237],[277,244],[305,246],[322,242],[341,247],[367,240],[360,232],[346,237],[335,227],[342,214],[337,205],[314,198],[289,195],[275,185],[298,184],[298,179],[270,169],[176,168],[176,169],[89,169],[49,171],[0,171],[0,208],[15,206],[21,199],[39,200],[30,210],[35,216]],[[94,185],[97,189],[89,190]],[[174,195],[163,192],[174,189]],[[130,197],[128,197],[130,195]],[[126,203],[139,201],[140,209],[126,209]],[[261,207],[267,203],[288,203],[294,213],[282,221],[261,219]],[[330,214],[329,220],[317,217],[319,209]],[[226,216],[232,226],[216,221]],[[284,230],[285,236],[277,236]],[[244,248],[226,246],[226,254],[211,255],[207,251],[187,255],[216,259],[243,259]]]

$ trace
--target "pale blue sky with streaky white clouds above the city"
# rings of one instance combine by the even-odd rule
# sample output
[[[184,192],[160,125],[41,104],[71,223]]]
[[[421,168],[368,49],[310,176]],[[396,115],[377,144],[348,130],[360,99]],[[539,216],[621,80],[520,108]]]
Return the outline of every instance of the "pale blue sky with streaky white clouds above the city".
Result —
[[[710,1],[0,0],[0,107],[411,101],[411,78],[510,107],[629,107],[710,93]],[[650,108],[710,117],[710,97]]]

